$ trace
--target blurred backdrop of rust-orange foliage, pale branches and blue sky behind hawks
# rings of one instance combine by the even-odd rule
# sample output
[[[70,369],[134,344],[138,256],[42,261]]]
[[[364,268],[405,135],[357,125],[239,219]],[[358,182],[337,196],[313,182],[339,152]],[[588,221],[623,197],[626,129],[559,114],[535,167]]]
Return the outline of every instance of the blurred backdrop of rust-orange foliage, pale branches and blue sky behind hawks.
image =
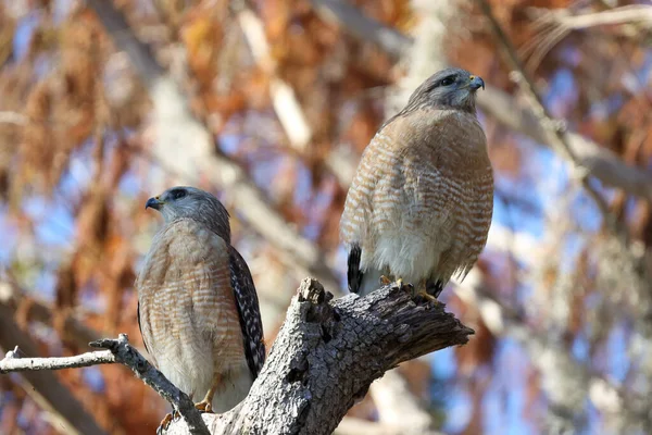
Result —
[[[272,344],[301,278],[346,291],[361,152],[455,65],[488,84],[496,171],[487,248],[442,295],[476,335],[374,383],[337,433],[652,433],[652,4],[488,3],[0,0],[2,352],[142,348],[145,202],[176,184],[230,211]],[[167,410],[121,365],[0,376],[3,435],[153,433]]]

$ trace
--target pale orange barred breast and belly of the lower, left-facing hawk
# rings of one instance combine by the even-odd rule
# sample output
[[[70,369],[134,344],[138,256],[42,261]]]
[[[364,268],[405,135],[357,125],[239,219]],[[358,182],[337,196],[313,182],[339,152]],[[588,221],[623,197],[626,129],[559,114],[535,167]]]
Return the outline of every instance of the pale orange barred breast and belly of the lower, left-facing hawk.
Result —
[[[154,363],[199,397],[214,373],[244,361],[224,239],[192,220],[156,234],[136,283],[140,323]]]

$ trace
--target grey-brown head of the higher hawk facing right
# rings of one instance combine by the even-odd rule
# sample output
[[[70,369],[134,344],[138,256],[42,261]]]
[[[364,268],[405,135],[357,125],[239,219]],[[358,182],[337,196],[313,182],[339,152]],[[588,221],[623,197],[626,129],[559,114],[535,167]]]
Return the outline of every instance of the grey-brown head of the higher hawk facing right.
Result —
[[[455,67],[441,70],[416,88],[405,110],[434,107],[475,113],[475,94],[479,88],[485,89],[485,80],[468,71]]]

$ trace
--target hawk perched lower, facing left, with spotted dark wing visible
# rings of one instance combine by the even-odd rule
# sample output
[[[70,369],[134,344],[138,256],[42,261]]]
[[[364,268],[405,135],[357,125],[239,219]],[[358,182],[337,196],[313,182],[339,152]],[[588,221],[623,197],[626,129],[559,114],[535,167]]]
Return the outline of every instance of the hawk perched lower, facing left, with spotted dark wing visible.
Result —
[[[230,246],[228,212],[193,187],[173,187],[146,208],[165,223],[136,281],[145,346],[173,384],[201,399],[199,409],[227,411],[265,360],[258,296]]]

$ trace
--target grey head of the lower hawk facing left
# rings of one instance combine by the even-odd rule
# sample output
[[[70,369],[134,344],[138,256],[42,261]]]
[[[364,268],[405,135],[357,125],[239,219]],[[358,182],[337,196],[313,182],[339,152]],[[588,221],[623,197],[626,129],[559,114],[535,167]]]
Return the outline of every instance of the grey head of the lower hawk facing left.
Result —
[[[172,187],[158,197],[148,199],[145,208],[159,210],[165,223],[178,219],[201,222],[230,244],[228,212],[222,202],[208,191],[188,186]]]

